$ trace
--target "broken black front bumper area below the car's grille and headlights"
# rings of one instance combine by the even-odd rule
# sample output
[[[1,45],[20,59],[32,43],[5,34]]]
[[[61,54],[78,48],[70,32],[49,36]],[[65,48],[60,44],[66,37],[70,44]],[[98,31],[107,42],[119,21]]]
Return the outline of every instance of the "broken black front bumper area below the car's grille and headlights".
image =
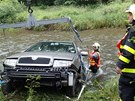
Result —
[[[67,69],[66,69],[67,70]],[[72,86],[73,73],[62,70],[25,70],[25,69],[7,69],[5,74],[8,78],[14,81],[26,81],[31,77],[39,76],[41,85],[46,86]],[[71,75],[72,74],[72,75]]]

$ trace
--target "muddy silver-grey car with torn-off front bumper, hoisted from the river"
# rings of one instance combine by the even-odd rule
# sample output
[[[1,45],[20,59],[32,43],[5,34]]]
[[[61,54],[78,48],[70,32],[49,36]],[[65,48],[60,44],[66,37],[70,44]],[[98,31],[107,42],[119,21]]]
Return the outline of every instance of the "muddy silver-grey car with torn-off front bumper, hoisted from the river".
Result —
[[[26,51],[11,55],[3,62],[2,92],[13,92],[30,76],[39,76],[40,85],[66,88],[66,94],[77,93],[81,78],[78,46],[70,41],[42,41]]]

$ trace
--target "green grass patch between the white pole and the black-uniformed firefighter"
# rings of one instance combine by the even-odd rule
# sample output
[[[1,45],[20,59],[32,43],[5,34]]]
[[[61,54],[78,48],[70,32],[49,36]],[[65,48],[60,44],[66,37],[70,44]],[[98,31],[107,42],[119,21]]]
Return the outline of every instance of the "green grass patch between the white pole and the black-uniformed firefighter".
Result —
[[[118,101],[118,78],[106,82],[94,81],[94,87],[90,86],[84,93],[81,101]]]

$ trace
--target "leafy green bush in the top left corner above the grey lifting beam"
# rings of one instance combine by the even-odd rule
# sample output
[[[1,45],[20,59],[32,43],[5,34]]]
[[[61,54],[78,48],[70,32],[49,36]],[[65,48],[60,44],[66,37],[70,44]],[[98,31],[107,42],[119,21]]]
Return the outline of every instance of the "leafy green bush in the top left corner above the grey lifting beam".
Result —
[[[17,0],[0,1],[0,23],[12,23],[15,21],[15,14],[23,11],[23,5]]]

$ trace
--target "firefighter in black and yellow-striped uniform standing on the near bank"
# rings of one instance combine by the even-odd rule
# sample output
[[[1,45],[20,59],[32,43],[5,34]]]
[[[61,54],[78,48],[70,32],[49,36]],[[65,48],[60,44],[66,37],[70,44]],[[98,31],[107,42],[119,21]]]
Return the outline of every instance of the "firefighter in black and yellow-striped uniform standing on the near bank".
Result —
[[[116,72],[120,75],[119,91],[122,101],[134,101],[135,96],[135,4],[127,10],[130,27],[118,42],[120,54]]]

